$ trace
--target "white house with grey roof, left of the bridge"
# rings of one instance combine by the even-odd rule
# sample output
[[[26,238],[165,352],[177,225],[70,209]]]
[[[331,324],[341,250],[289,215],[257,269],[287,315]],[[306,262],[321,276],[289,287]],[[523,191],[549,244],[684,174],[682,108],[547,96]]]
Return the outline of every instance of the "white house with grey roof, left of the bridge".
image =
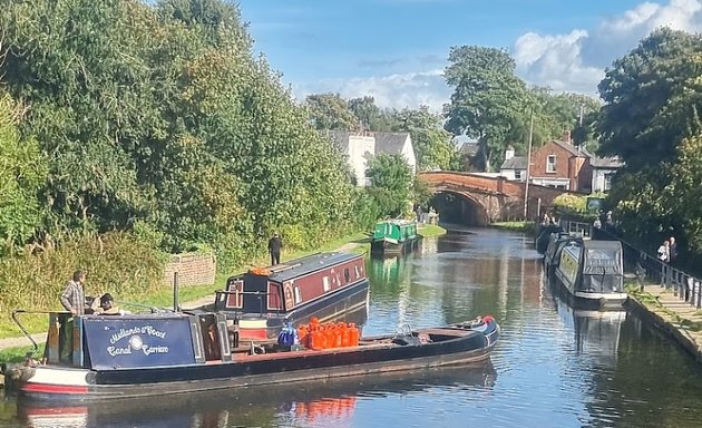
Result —
[[[339,147],[349,160],[349,166],[355,176],[359,186],[370,186],[370,179],[365,176],[368,159],[379,154],[402,155],[407,160],[412,175],[417,172],[417,158],[409,133],[369,133],[329,130],[332,142]]]

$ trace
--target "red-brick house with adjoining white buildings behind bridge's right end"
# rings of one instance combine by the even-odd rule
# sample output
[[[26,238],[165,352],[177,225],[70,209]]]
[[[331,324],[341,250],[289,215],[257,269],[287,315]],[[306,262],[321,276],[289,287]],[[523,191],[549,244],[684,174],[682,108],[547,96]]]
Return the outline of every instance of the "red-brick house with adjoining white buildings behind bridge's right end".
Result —
[[[601,158],[576,147],[569,133],[532,153],[529,183],[565,188],[574,192],[607,192],[614,173],[623,164],[617,158]],[[500,174],[507,179],[526,179],[526,157],[515,156],[514,148],[505,150]]]

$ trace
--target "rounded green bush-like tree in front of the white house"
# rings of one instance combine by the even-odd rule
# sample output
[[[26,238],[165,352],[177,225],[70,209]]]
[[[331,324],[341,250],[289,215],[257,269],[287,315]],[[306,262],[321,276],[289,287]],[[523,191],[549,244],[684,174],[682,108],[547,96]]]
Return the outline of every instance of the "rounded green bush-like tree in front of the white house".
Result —
[[[412,171],[402,155],[380,154],[369,159],[365,176],[382,215],[398,216],[404,212],[411,201]]]

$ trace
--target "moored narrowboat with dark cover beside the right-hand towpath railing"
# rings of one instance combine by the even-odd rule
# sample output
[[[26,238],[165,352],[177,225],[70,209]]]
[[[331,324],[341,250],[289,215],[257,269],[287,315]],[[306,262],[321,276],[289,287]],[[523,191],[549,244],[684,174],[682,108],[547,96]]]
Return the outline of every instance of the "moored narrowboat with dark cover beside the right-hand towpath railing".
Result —
[[[624,264],[620,241],[571,241],[560,251],[554,280],[574,307],[592,310],[622,310],[628,298],[624,291]]]

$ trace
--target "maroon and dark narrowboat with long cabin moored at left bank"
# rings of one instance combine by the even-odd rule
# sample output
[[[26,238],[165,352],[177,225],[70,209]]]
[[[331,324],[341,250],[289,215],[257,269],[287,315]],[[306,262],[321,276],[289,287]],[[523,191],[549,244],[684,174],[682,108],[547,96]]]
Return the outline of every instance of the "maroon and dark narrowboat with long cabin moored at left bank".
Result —
[[[244,339],[273,339],[286,322],[355,317],[368,305],[369,282],[360,254],[319,253],[252,269],[216,291],[214,310],[234,320]]]

